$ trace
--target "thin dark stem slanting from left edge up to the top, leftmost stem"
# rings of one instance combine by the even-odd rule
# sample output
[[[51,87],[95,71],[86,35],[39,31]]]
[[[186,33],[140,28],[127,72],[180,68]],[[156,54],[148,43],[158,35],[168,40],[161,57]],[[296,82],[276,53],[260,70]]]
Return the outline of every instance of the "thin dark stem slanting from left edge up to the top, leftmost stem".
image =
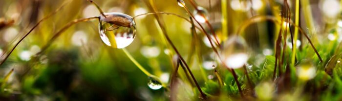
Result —
[[[36,25],[34,25],[30,31],[28,31],[17,43],[16,45],[10,50],[10,52],[6,55],[6,57],[0,62],[0,66],[7,60],[7,58],[9,57],[9,55],[11,55],[11,53],[18,47],[18,45],[21,43],[21,41],[26,38],[27,35],[29,35],[36,27],[38,27],[39,24],[41,24],[44,20],[46,20],[47,18],[52,17],[53,15],[55,15],[59,10],[61,10],[64,5],[66,5],[69,1],[64,2],[61,7],[57,8],[54,12],[52,12],[51,14],[43,17]],[[4,54],[3,54],[4,55]],[[2,55],[1,55],[2,57]]]

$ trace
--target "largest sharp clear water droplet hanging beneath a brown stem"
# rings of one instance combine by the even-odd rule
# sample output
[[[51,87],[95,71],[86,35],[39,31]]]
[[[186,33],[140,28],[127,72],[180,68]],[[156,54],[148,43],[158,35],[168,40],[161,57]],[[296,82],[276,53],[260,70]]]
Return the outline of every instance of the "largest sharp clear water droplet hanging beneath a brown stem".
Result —
[[[123,13],[105,13],[100,16],[99,31],[102,41],[110,47],[122,49],[130,45],[136,34],[132,17]]]

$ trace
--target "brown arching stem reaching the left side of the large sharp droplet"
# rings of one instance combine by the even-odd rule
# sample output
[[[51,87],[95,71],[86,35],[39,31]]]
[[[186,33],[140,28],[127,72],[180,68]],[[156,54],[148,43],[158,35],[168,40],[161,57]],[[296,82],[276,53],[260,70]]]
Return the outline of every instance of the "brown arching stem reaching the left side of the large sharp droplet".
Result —
[[[37,54],[42,54],[44,50],[46,50],[56,39],[58,36],[60,36],[64,31],[66,31],[69,27],[72,25],[79,23],[79,22],[85,22],[89,21],[92,19],[98,19],[99,17],[89,17],[89,18],[80,18],[80,19],[75,19],[69,23],[67,23],[61,30],[59,30],[56,34],[52,36],[52,38],[43,46],[42,50],[38,52]]]

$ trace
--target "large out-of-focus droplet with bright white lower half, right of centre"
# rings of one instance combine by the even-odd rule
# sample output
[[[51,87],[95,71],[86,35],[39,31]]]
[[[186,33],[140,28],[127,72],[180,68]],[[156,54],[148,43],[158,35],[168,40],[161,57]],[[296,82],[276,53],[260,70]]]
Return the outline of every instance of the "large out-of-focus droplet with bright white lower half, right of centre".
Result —
[[[248,58],[247,45],[241,36],[230,36],[223,44],[221,59],[228,68],[240,68],[246,64]]]

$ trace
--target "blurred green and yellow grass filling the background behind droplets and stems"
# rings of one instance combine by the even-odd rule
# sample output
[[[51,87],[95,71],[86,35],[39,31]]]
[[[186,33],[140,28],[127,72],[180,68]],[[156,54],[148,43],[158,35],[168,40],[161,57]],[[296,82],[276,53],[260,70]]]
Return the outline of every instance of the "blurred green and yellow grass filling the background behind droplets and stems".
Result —
[[[186,18],[189,16],[183,8],[177,5],[176,0],[146,1],[153,1],[158,11],[174,13]],[[184,1],[191,11],[194,10],[188,0]],[[234,6],[234,4],[232,5],[233,1],[237,0],[222,0],[222,3],[226,1],[227,7],[221,7],[221,0],[211,0],[211,6],[207,3],[208,0],[195,1],[209,11],[209,22],[213,25],[215,33],[222,43],[252,17],[251,9],[244,11],[244,8],[236,10],[232,7]],[[241,1],[249,2],[249,0]],[[256,6],[255,4],[262,5],[260,9],[252,11],[253,15],[280,18],[278,14],[283,6],[283,1],[260,0],[261,4],[258,3],[259,0],[253,1],[252,7]],[[276,62],[273,49],[275,49],[278,31],[282,26],[271,21],[252,24],[242,34],[249,46],[250,59],[246,67],[252,85],[248,85],[243,68],[235,69],[245,95],[244,98],[239,95],[232,73],[220,63],[219,59],[216,59],[217,56],[213,50],[207,47],[208,43],[205,43],[206,36],[204,34],[196,29],[198,37],[195,40],[199,43],[193,46],[191,43],[194,35],[190,29],[191,23],[175,16],[160,15],[160,17],[163,17],[166,32],[181,56],[186,60],[192,60],[187,61],[187,64],[190,65],[200,88],[208,96],[207,100],[339,101],[342,94],[342,49],[340,48],[342,47],[342,26],[339,25],[342,22],[340,22],[340,15],[333,18],[326,17],[322,7],[317,6],[324,5],[322,2],[326,0],[307,1],[309,0],[303,4],[311,4],[310,7],[317,11],[312,10],[313,19],[311,20],[305,20],[307,15],[300,15],[299,23],[301,28],[309,34],[323,62],[320,62],[305,37],[299,35],[298,39],[301,44],[296,51],[297,59],[294,67],[290,65],[292,63],[291,56],[293,56],[292,49],[287,46],[285,60],[281,64],[284,75],[273,80]],[[4,22],[14,20],[13,24],[0,26],[0,49],[3,53],[8,54],[14,43],[23,34],[28,32],[41,18],[55,11],[63,2],[64,0],[1,0],[0,18],[3,18]],[[146,3],[140,0],[96,0],[96,2],[104,12],[122,12],[132,17],[150,12]],[[295,0],[291,0],[289,4],[291,15],[293,15],[291,20],[295,21]],[[223,19],[221,11],[227,13]],[[304,14],[302,12],[299,13]],[[307,11],[305,11],[306,13]],[[339,13],[341,13],[340,10]],[[43,21],[0,66],[0,75],[3,75],[0,79],[3,84],[0,90],[0,100],[165,101],[171,99],[169,96],[172,93],[176,94],[175,100],[200,100],[198,98],[200,93],[196,86],[191,84],[193,81],[190,82],[187,79],[181,67],[178,70],[177,84],[174,85],[176,89],[168,90],[164,87],[158,90],[150,89],[147,85],[149,78],[128,59],[123,50],[110,48],[102,42],[98,32],[98,20],[80,22],[71,26],[42,55],[39,57],[32,55],[40,51],[40,48],[66,23],[73,19],[99,15],[97,9],[88,1],[72,0],[55,16]],[[221,21],[227,22],[222,25]],[[154,16],[148,15],[137,17],[135,22],[137,35],[133,43],[126,49],[145,69],[160,77],[163,84],[171,85],[171,74],[174,70],[172,64],[176,64],[172,63],[174,62],[172,57],[175,53],[172,49],[168,49],[170,44],[165,41],[165,36],[158,26],[157,20]],[[314,27],[319,27],[312,28],[310,25],[311,27],[307,30],[307,24],[312,23],[317,24]],[[195,25],[198,26],[198,24]],[[205,29],[210,34],[210,29],[207,26]],[[81,35],[77,36],[76,32]],[[287,36],[290,36],[289,34]],[[282,39],[281,42],[283,45],[286,41]],[[151,47],[156,50],[149,50]],[[193,48],[195,50],[190,51]],[[192,52],[192,55],[189,54]],[[2,52],[0,51],[0,53]],[[197,54],[201,58],[198,58]],[[188,59],[190,57],[192,59]],[[0,60],[2,60],[1,58]],[[209,67],[208,64],[201,64],[198,59],[202,59],[200,61],[203,63],[208,62]],[[312,79],[302,80],[298,77],[300,73],[298,70],[308,61],[316,71],[310,72],[314,74]],[[222,86],[220,86],[211,65],[216,67],[218,75],[222,78]],[[204,73],[199,67],[206,68]],[[12,68],[14,68],[14,72],[9,75],[8,80],[5,80],[5,75]],[[208,78],[208,81],[204,78]]]

